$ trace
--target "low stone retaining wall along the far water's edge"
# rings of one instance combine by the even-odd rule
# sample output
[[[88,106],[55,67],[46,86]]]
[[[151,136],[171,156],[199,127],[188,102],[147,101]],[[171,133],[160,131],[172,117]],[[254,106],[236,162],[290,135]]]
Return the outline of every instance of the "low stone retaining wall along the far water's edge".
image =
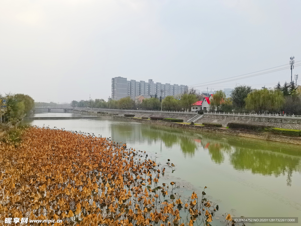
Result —
[[[233,135],[233,136],[239,136],[239,137],[248,137],[248,138],[261,139],[261,140],[270,140],[270,141],[277,141],[277,142],[282,142],[282,143],[291,143],[291,144],[301,145],[301,138],[297,138],[297,137],[285,137],[285,136],[279,136],[279,135],[268,134],[268,133],[245,132],[245,131],[229,130],[229,129],[225,129],[225,128],[216,128],[216,127],[194,126],[194,125],[189,125],[189,124],[180,124],[180,123],[173,123],[173,122],[166,122],[166,121],[145,120],[145,119],[139,119],[139,118],[127,118],[127,117],[121,117],[121,116],[117,116],[117,115],[115,115],[114,117],[122,118],[122,119],[128,120],[128,121],[136,121],[136,122],[143,122],[143,123],[149,123],[149,124],[158,124],[158,125],[179,127],[179,128],[192,129],[192,130],[198,130],[198,131],[204,131],[204,132],[221,133],[221,134],[227,134],[227,135]]]

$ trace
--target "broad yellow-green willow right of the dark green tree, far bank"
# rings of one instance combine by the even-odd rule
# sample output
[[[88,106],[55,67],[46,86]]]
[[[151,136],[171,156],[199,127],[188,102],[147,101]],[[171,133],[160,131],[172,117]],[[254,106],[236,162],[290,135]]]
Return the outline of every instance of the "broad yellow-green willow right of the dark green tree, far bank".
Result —
[[[246,98],[246,108],[259,113],[280,111],[284,103],[280,90],[255,89]]]

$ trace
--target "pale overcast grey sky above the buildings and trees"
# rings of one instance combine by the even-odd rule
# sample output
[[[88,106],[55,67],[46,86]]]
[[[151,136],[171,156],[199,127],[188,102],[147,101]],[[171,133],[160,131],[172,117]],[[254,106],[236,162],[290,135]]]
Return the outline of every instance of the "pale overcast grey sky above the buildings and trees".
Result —
[[[289,68],[225,81],[288,67],[291,55],[293,77],[301,75],[300,8],[300,0],[0,0],[0,93],[107,100],[118,76],[214,91],[273,87],[290,82]]]

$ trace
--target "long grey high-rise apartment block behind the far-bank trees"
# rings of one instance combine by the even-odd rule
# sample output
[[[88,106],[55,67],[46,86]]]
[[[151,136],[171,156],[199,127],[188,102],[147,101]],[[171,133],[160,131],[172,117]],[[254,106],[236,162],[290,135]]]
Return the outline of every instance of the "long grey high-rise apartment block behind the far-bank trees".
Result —
[[[123,97],[130,96],[131,99],[135,100],[136,96],[148,95],[158,97],[162,95],[162,99],[166,96],[178,96],[188,91],[188,86],[169,83],[161,84],[160,82],[154,83],[152,79],[148,82],[130,80],[123,77],[112,78],[112,99],[119,100]],[[162,93],[161,93],[162,90]]]

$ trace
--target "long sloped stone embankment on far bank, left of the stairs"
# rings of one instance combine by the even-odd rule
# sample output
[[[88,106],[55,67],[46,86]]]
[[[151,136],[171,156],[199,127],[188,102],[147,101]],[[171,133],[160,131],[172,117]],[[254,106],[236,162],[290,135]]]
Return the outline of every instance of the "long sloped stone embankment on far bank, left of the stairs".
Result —
[[[123,116],[126,113],[133,114],[135,115],[135,117],[138,118],[151,117],[151,116],[164,117],[164,118],[177,118],[177,119],[183,119],[185,122],[193,118],[194,116],[196,116],[195,114],[173,113],[173,112],[160,113],[160,112],[143,112],[143,111],[126,111],[126,110],[106,110],[106,109],[90,109],[89,111],[86,108],[75,108],[72,112],[100,116],[99,114],[97,114],[97,112],[99,111],[106,112],[108,114],[118,114],[119,116]],[[71,111],[69,110],[68,112]]]

